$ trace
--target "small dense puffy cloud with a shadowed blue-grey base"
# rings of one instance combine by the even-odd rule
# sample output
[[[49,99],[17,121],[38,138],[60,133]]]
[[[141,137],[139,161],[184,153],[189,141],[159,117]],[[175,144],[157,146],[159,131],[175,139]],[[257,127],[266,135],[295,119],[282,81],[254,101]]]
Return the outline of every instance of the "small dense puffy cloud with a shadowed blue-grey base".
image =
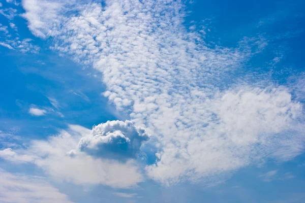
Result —
[[[137,158],[149,136],[145,129],[131,121],[107,121],[93,127],[92,133],[80,139],[77,151],[108,159]],[[75,150],[70,154],[77,153]]]

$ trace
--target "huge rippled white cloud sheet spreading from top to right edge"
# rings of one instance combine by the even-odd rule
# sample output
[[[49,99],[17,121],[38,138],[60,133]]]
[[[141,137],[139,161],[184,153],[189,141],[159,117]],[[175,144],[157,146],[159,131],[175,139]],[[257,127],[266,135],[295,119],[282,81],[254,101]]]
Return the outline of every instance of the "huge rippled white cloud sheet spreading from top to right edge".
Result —
[[[268,46],[263,37],[209,48],[184,27],[180,1],[34,3],[23,1],[34,35],[52,37],[54,50],[102,72],[104,95],[154,135],[158,160],[146,166],[148,177],[198,181],[303,151],[303,107],[291,89],[234,80],[234,71]],[[123,132],[108,138],[128,143]],[[84,149],[105,146],[104,139],[91,136]]]

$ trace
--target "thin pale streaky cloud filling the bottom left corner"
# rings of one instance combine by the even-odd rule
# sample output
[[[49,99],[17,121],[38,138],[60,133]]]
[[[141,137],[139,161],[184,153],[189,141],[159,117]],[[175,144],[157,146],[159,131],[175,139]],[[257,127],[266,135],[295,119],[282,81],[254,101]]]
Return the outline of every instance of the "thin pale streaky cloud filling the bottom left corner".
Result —
[[[72,203],[44,178],[11,174],[0,168],[0,201],[8,203]]]

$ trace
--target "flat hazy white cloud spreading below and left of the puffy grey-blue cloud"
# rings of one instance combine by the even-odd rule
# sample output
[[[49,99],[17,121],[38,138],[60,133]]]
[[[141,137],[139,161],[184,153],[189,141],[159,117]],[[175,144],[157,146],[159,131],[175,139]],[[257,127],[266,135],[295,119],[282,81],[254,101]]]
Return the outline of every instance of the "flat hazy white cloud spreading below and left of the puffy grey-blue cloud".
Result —
[[[92,130],[71,125],[68,131],[61,131],[48,140],[34,140],[25,149],[1,150],[0,157],[16,164],[35,164],[55,180],[79,185],[103,184],[115,188],[129,188],[143,181],[134,160],[121,163],[86,153],[74,157],[67,155],[67,152],[90,133]]]

